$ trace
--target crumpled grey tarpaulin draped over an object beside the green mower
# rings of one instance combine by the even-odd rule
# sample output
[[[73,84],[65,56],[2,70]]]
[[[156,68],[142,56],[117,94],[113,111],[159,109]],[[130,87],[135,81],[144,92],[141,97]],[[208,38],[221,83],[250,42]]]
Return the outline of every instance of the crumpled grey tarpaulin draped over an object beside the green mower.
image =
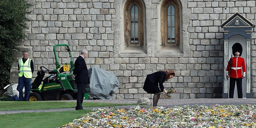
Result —
[[[96,99],[112,100],[114,92],[119,87],[119,81],[115,74],[95,66],[89,68],[88,73],[90,78],[90,96]]]

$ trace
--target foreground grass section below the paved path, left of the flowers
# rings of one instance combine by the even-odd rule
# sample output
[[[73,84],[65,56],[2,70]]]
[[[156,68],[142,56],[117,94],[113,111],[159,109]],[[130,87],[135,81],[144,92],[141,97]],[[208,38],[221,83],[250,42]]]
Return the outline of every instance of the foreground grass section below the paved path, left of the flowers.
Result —
[[[56,128],[80,118],[91,110],[33,112],[0,115],[1,128]]]

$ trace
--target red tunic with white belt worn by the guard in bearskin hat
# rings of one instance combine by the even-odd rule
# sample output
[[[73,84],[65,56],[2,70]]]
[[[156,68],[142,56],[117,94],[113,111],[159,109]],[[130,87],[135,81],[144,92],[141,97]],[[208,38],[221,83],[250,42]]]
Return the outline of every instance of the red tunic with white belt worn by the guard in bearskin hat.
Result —
[[[226,71],[228,71],[229,65],[230,65],[230,62],[228,62]],[[232,57],[232,65],[229,73],[230,78],[242,78],[243,74],[245,76],[245,72],[246,72],[246,67],[245,67],[244,58]]]

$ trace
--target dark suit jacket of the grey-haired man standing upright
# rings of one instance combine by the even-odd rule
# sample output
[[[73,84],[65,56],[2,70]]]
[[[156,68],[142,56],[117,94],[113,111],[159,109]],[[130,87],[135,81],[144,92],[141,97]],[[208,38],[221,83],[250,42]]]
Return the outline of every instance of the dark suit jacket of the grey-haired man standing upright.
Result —
[[[76,83],[90,84],[88,69],[85,60],[82,56],[78,56],[74,64],[73,74],[75,75]]]

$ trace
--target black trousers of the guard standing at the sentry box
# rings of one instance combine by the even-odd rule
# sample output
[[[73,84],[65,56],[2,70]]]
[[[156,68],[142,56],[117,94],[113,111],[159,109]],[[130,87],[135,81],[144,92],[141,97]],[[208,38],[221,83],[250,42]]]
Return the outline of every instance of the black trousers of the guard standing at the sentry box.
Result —
[[[238,98],[243,98],[242,78],[229,79],[229,98],[234,98],[235,85],[237,87]]]

